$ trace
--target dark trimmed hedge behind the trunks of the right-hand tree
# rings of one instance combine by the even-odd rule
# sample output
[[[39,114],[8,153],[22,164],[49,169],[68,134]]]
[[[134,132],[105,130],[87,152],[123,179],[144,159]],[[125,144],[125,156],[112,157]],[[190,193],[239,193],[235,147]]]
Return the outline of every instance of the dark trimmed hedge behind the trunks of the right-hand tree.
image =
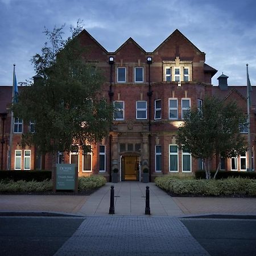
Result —
[[[215,171],[210,171],[210,176],[213,177]],[[196,179],[205,179],[205,171],[200,170],[195,172]],[[241,177],[246,179],[256,179],[256,172],[243,171],[218,171],[216,179],[227,179],[228,177]]]

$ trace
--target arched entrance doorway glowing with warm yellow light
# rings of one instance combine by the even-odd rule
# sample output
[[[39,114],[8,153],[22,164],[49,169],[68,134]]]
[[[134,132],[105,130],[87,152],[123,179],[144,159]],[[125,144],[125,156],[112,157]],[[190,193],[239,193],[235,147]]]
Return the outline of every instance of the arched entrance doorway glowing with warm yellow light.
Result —
[[[138,155],[123,155],[121,157],[121,180],[137,180],[140,174],[140,157]]]

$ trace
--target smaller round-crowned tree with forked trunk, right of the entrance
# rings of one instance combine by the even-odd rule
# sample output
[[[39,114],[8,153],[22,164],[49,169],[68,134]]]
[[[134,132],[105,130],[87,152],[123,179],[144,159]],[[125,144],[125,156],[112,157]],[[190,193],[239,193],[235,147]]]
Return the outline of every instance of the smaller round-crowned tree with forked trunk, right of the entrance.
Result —
[[[202,108],[190,109],[185,116],[177,132],[177,144],[194,158],[203,160],[206,179],[210,179],[210,160],[215,155],[218,160],[215,178],[221,157],[232,158],[247,150],[246,140],[240,133],[244,123],[245,115],[236,102],[208,97]]]

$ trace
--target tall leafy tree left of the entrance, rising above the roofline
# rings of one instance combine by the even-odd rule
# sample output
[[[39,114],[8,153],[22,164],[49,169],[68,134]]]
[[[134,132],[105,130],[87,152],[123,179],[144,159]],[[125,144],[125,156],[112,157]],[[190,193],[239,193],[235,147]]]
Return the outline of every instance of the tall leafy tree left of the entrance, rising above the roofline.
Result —
[[[40,152],[71,151],[73,144],[86,154],[86,144],[101,141],[112,123],[112,106],[100,95],[104,76],[86,62],[86,49],[77,35],[80,22],[63,39],[63,28],[45,30],[50,42],[31,62],[37,74],[26,82],[12,106],[15,117],[35,122],[35,133],[23,134],[22,144],[35,144]]]

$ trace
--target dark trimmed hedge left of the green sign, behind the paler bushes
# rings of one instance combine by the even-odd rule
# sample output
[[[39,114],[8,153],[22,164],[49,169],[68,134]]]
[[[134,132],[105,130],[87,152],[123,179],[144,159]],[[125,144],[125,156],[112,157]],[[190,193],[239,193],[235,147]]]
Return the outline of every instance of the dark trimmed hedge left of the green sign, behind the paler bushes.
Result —
[[[25,181],[43,181],[52,178],[52,172],[46,170],[15,170],[15,171],[0,171],[0,180],[25,180]]]

